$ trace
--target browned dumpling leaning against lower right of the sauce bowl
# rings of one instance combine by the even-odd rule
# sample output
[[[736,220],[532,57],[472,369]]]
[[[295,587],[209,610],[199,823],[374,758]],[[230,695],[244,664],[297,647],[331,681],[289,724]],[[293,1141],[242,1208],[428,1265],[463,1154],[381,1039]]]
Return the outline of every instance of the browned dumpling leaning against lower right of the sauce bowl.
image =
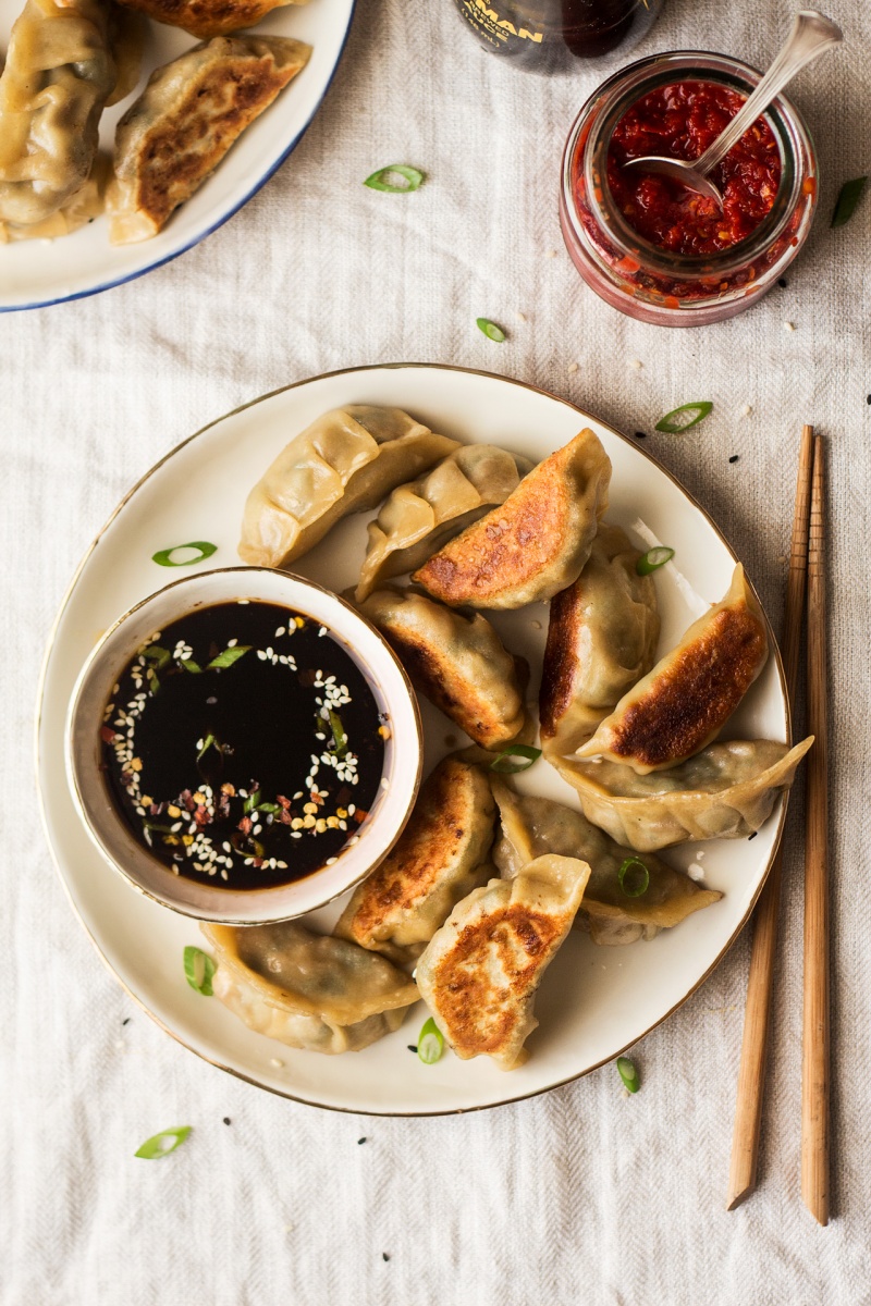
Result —
[[[355,891],[336,934],[393,961],[413,961],[460,899],[488,878],[495,806],[477,767],[439,763],[409,824]]]

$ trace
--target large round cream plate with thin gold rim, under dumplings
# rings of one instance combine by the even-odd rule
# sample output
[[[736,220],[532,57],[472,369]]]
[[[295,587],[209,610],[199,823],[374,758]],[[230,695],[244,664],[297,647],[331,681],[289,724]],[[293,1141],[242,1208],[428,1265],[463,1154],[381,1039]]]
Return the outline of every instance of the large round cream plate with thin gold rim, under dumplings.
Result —
[[[239,522],[251,485],[287,440],[319,414],[343,404],[407,409],[444,435],[500,444],[543,458],[590,426],[614,464],[609,517],[640,543],[653,533],[675,550],[657,573],[661,650],[675,643],[708,602],[726,592],[735,558],[697,503],[635,443],[572,404],[500,376],[432,364],[333,372],[266,394],[191,436],[125,496],[91,545],[64,599],[43,670],[38,772],[44,824],[71,902],[106,964],[174,1038],[206,1060],[261,1088],[349,1111],[439,1114],[494,1106],[541,1093],[610,1060],[665,1020],[701,983],[747,919],[770,865],[782,807],[751,840],[667,849],[687,868],[704,853],[705,884],[722,901],[674,930],[629,947],[594,947],[573,931],[545,976],[539,1028],[530,1058],[504,1074],[486,1058],[445,1054],[424,1066],[409,1051],[426,1016],[411,1010],[402,1028],[362,1053],[324,1057],[294,1051],[248,1030],[217,999],[185,982],[182,949],[200,943],[189,919],[136,893],[104,865],[76,814],[64,771],[64,721],[78,669],[119,614],[158,589],[166,572],[158,550],[189,539],[218,546],[212,565],[236,560]],[[298,571],[333,589],[356,580],[366,518],[341,522]],[[508,646],[530,658],[537,692],[547,607],[496,613]],[[422,703],[424,773],[449,751],[453,727]],[[789,738],[789,712],[777,654],[769,658],[727,735]],[[529,793],[575,804],[576,797],[543,761],[518,777]],[[328,927],[343,900],[315,914]],[[277,1064],[279,1062],[281,1064]]]

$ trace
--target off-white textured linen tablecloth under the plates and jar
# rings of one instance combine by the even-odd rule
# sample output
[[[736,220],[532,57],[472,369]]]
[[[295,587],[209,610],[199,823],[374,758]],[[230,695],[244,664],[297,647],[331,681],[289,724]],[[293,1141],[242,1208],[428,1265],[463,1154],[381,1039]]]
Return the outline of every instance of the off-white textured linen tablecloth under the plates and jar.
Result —
[[[669,0],[637,55],[696,47],[764,64],[793,8]],[[849,226],[828,225],[841,182],[870,165],[868,20],[863,0],[828,8],[847,44],[791,91],[823,162],[816,227],[787,287],[733,321],[666,332],[586,290],[560,240],[558,170],[607,65],[563,80],[517,73],[479,52],[449,0],[360,0],[304,140],[197,248],[97,298],[0,319],[3,1306],[871,1302],[871,199]],[[423,167],[426,185],[404,199],[359,184],[389,162]],[[481,315],[509,341],[486,340]],[[191,431],[289,381],[392,360],[505,372],[646,431],[645,447],[722,526],[776,624],[800,423],[827,436],[828,1229],[799,1195],[795,833],[760,1183],[734,1213],[723,1203],[747,932],[636,1049],[636,1097],[607,1066],[481,1114],[366,1119],[282,1101],[197,1060],[124,995],[76,922],[38,827],[31,733],[43,645],[80,555],[128,486]],[[703,426],[652,434],[696,398],[714,401]],[[799,788],[793,828],[800,811]],[[171,1161],[133,1158],[142,1139],[183,1122],[196,1130]]]

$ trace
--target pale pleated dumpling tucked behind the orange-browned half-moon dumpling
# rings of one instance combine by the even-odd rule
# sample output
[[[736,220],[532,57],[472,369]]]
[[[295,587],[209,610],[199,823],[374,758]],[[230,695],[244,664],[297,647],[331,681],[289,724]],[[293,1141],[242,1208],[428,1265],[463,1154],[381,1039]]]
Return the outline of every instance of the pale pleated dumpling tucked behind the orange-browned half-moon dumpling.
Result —
[[[392,576],[414,571],[494,504],[504,503],[533,464],[492,444],[461,444],[431,471],[397,486],[368,525],[362,602]]]

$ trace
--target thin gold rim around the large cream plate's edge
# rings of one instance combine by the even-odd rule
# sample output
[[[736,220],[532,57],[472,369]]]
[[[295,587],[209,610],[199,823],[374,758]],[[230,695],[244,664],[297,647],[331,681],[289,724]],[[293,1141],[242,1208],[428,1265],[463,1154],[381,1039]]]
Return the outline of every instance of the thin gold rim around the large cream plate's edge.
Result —
[[[315,1106],[315,1107],[317,1107],[317,1109],[320,1109],[323,1111],[337,1111],[341,1115],[372,1115],[372,1117],[388,1117],[388,1118],[396,1118],[396,1119],[415,1119],[415,1118],[439,1117],[439,1115],[469,1115],[473,1111],[488,1111],[488,1110],[492,1110],[492,1109],[495,1109],[498,1106],[511,1106],[513,1102],[522,1102],[522,1101],[526,1101],[526,1100],[529,1100],[531,1097],[541,1097],[543,1093],[550,1093],[550,1092],[552,1092],[556,1088],[564,1088],[565,1084],[573,1084],[576,1080],[582,1079],[585,1075],[592,1075],[593,1071],[601,1070],[602,1066],[606,1066],[609,1062],[614,1060],[615,1057],[620,1057],[622,1053],[627,1051],[629,1047],[633,1047],[642,1038],[646,1038],[648,1034],[652,1033],[654,1029],[657,1029],[663,1021],[669,1020],[675,1013],[675,1011],[678,1011],[679,1007],[683,1007],[684,1002],[688,1002],[689,998],[692,998],[692,995],[695,993],[697,993],[699,989],[701,989],[703,983],[705,983],[705,981],[709,978],[709,976],[717,969],[717,966],[723,960],[723,957],[726,956],[726,953],[729,952],[729,949],[736,942],[738,936],[740,935],[742,930],[744,929],[744,926],[747,925],[750,917],[752,916],[753,908],[756,906],[756,902],[759,900],[759,895],[761,893],[763,887],[765,884],[765,880],[768,879],[768,874],[769,874],[769,871],[772,868],[772,865],[773,865],[774,858],[777,855],[777,850],[778,850],[781,840],[784,837],[784,824],[786,821],[786,808],[789,806],[789,794],[790,794],[790,791],[786,790],[784,793],[782,798],[781,798],[780,820],[777,823],[777,831],[774,832],[774,842],[772,844],[772,850],[770,850],[769,857],[768,857],[768,865],[765,866],[765,868],[764,868],[764,871],[761,874],[761,878],[760,878],[759,884],[756,887],[756,892],[752,896],[752,900],[750,902],[750,906],[747,908],[747,912],[744,913],[744,916],[742,917],[742,919],[735,926],[731,936],[727,939],[727,942],[725,943],[725,946],[717,953],[717,956],[710,963],[710,965],[708,966],[708,969],[705,970],[705,973],[703,976],[700,976],[700,978],[696,981],[696,983],[692,986],[692,989],[689,989],[688,993],[686,993],[683,995],[683,998],[680,998],[674,1004],[674,1007],[670,1007],[669,1011],[665,1012],[665,1015],[659,1016],[658,1020],[654,1020],[652,1025],[648,1025],[648,1028],[645,1030],[642,1030],[642,1033],[637,1034],[628,1043],[624,1043],[623,1047],[615,1047],[612,1053],[610,1053],[607,1057],[603,1057],[601,1060],[595,1062],[594,1066],[588,1066],[586,1070],[578,1071],[576,1075],[567,1075],[565,1079],[560,1079],[555,1084],[548,1084],[546,1088],[534,1088],[534,1089],[530,1089],[526,1093],[517,1093],[513,1097],[501,1098],[499,1102],[483,1102],[481,1106],[448,1107],[445,1110],[436,1110],[436,1111],[375,1111],[375,1110],[362,1110],[360,1107],[330,1106],[330,1105],[328,1105],[325,1102],[315,1102],[311,1098],[299,1097],[298,1094],[285,1092],[281,1088],[273,1088],[269,1084],[262,1084],[262,1083],[260,1083],[260,1080],[252,1079],[249,1075],[244,1075],[242,1071],[234,1070],[231,1066],[223,1066],[221,1062],[213,1060],[212,1057],[206,1057],[205,1053],[201,1053],[196,1047],[192,1047],[189,1043],[185,1043],[184,1040],[179,1037],[179,1034],[176,1034],[172,1029],[170,1029],[161,1020],[161,1017],[158,1015],[155,1015],[155,1012],[153,1012],[145,1004],[145,1002],[142,1002],[142,999],[140,996],[137,996],[137,994],[133,993],[132,989],[128,987],[128,985],[121,980],[121,977],[118,974],[118,972],[112,969],[108,959],[106,957],[104,952],[101,949],[99,944],[97,943],[97,939],[94,938],[94,935],[89,930],[87,925],[82,919],[82,916],[81,916],[81,913],[80,913],[76,902],[73,901],[72,891],[71,891],[69,885],[67,884],[67,880],[65,880],[64,874],[63,874],[61,867],[60,867],[60,861],[59,861],[59,858],[57,858],[57,855],[55,853],[55,846],[54,846],[54,842],[52,842],[50,832],[48,832],[48,818],[47,818],[47,812],[46,812],[46,804],[44,804],[44,801],[43,801],[42,785],[39,782],[39,778],[40,778],[40,763],[42,763],[42,756],[40,756],[40,750],[39,750],[39,738],[40,738],[40,727],[42,727],[42,700],[43,700],[43,691],[44,691],[44,684],[46,684],[46,677],[48,674],[48,662],[51,660],[51,654],[52,654],[52,650],[54,650],[54,646],[55,646],[55,637],[57,635],[57,627],[60,626],[60,620],[61,620],[61,618],[63,618],[63,615],[64,615],[64,613],[67,610],[67,605],[69,603],[72,593],[76,589],[76,585],[78,584],[78,579],[80,579],[81,573],[84,572],[85,565],[87,564],[91,554],[97,549],[97,545],[101,542],[101,539],[103,538],[103,535],[106,534],[106,532],[108,530],[108,528],[112,525],[112,522],[115,521],[115,518],[119,516],[119,513],[131,502],[131,499],[133,498],[133,495],[145,485],[146,481],[149,481],[154,475],[155,471],[159,471],[159,469],[163,466],[165,462],[168,462],[170,458],[175,457],[175,454],[179,453],[182,449],[184,449],[188,444],[191,444],[193,440],[197,440],[201,435],[205,435],[206,431],[210,431],[213,426],[218,426],[221,422],[226,422],[227,418],[235,417],[238,413],[244,413],[245,409],[253,407],[255,404],[261,404],[264,400],[274,398],[276,394],[285,394],[287,390],[299,389],[299,387],[302,387],[302,385],[309,385],[313,381],[332,380],[336,376],[349,376],[349,375],[351,375],[354,372],[377,372],[377,371],[393,372],[393,371],[404,371],[404,370],[413,370],[413,368],[427,368],[430,371],[441,371],[441,372],[464,372],[464,374],[471,375],[471,376],[483,376],[487,380],[492,380],[492,381],[503,381],[507,385],[517,385],[521,389],[533,390],[533,393],[535,393],[535,394],[543,394],[546,398],[555,400],[555,402],[562,404],[564,407],[568,407],[572,411],[577,413],[577,415],[580,418],[590,421],[590,422],[594,422],[597,426],[603,427],[609,432],[609,435],[612,435],[618,440],[622,440],[624,444],[628,444],[629,448],[635,449],[636,453],[640,453],[642,458],[646,458],[648,462],[652,462],[653,466],[657,468],[658,471],[661,471],[665,477],[667,477],[667,479],[671,481],[671,483],[674,486],[676,486],[676,488],[682,492],[682,495],[684,496],[684,499],[687,499],[687,502],[696,509],[696,512],[699,512],[700,516],[708,522],[708,525],[710,526],[710,529],[713,530],[713,533],[717,535],[717,538],[721,541],[721,543],[726,549],[726,551],[730,555],[730,558],[735,563],[740,562],[740,559],[735,555],[735,551],[733,550],[731,545],[729,543],[729,541],[723,535],[723,533],[720,529],[720,526],[716,524],[716,521],[712,518],[712,516],[708,513],[708,511],[705,508],[703,508],[703,505],[699,503],[699,500],[696,499],[696,496],[693,494],[691,494],[691,491],[687,490],[686,486],[682,485],[682,482],[678,479],[678,477],[674,475],[674,473],[671,473],[667,468],[663,468],[662,464],[658,462],[653,457],[653,454],[650,454],[645,449],[640,448],[637,444],[635,444],[632,440],[629,440],[629,438],[627,435],[623,435],[620,431],[616,431],[612,426],[610,426],[610,423],[602,422],[601,418],[594,417],[592,413],[586,413],[584,409],[578,407],[577,404],[572,404],[571,400],[564,400],[559,394],[554,394],[552,390],[546,390],[543,387],[541,387],[541,385],[533,385],[529,381],[518,381],[518,380],[516,380],[516,377],[512,377],[512,376],[501,376],[499,372],[486,372],[486,371],[483,371],[479,367],[454,367],[451,363],[367,363],[367,364],[364,364],[362,367],[340,367],[340,368],[337,368],[336,371],[332,371],[332,372],[320,372],[317,376],[307,376],[302,381],[291,381],[290,385],[279,385],[274,390],[266,390],[266,393],[259,394],[256,398],[248,400],[247,404],[240,404],[238,407],[230,409],[229,413],[223,413],[221,417],[214,418],[212,422],[208,422],[205,426],[200,427],[198,431],[195,431],[192,435],[188,435],[184,440],[180,440],[179,444],[174,445],[167,453],[163,454],[162,458],[158,458],[158,461],[154,462],[149,468],[149,470],[144,475],[141,475],[138,478],[138,481],[136,481],[131,486],[131,488],[127,491],[127,494],[119,500],[119,503],[115,505],[115,508],[112,509],[112,512],[110,513],[110,516],[106,518],[106,521],[103,522],[103,525],[97,532],[97,534],[94,535],[93,541],[90,542],[90,545],[85,550],[85,554],[82,555],[78,565],[76,567],[76,571],[73,572],[73,576],[72,576],[72,579],[71,579],[67,589],[64,590],[64,596],[63,596],[63,598],[60,601],[60,606],[57,609],[57,615],[55,616],[55,619],[54,619],[54,622],[51,624],[51,629],[48,632],[48,641],[47,641],[47,645],[46,645],[46,653],[43,656],[42,667],[40,667],[40,671],[39,671],[39,682],[38,682],[38,686],[37,686],[35,750],[34,750],[34,752],[35,752],[34,760],[35,760],[35,769],[37,769],[37,799],[38,799],[38,803],[39,803],[39,815],[40,815],[40,819],[42,819],[42,825],[43,825],[43,832],[44,832],[44,836],[46,836],[46,842],[48,845],[48,852],[51,854],[52,862],[55,863],[55,870],[57,872],[57,878],[60,879],[60,883],[63,885],[64,893],[67,895],[67,900],[68,900],[68,902],[69,902],[69,905],[71,905],[71,908],[73,910],[73,914],[76,916],[76,919],[78,921],[78,923],[81,925],[82,930],[85,931],[85,934],[90,939],[90,942],[91,942],[91,944],[94,947],[94,951],[97,952],[98,957],[101,959],[101,961],[103,963],[103,965],[106,966],[106,969],[110,972],[110,974],[118,981],[118,983],[121,986],[121,989],[127,993],[127,995],[129,998],[132,998],[132,1000],[136,1003],[136,1006],[140,1007],[140,1010],[144,1011],[145,1015],[149,1016],[149,1019],[153,1020],[154,1024],[159,1029],[162,1029],[166,1034],[168,1034],[170,1038],[175,1040],[176,1043],[179,1043],[182,1047],[185,1047],[189,1053],[193,1053],[195,1057],[198,1057],[201,1060],[206,1062],[209,1066],[214,1066],[217,1070],[225,1071],[227,1075],[232,1075],[235,1079],[243,1080],[245,1084],[252,1084],[255,1088],[259,1088],[262,1092],[273,1093],[276,1097],[283,1097],[283,1098],[286,1098],[286,1100],[289,1100],[291,1102],[299,1102],[303,1106]],[[753,594],[756,594],[756,589],[755,589],[752,581],[750,582],[750,586],[751,586]],[[759,599],[759,594],[756,594],[756,598]],[[790,708],[790,697],[789,697],[789,693],[786,692],[786,678],[784,675],[784,662],[782,662],[782,658],[781,658],[780,645],[777,643],[777,639],[776,639],[774,632],[772,629],[772,624],[770,624],[770,622],[768,619],[768,614],[767,614],[765,607],[763,606],[761,601],[760,601],[760,607],[761,607],[763,614],[765,616],[765,626],[768,627],[769,643],[770,643],[770,648],[772,648],[773,654],[774,654],[774,666],[777,669],[777,678],[778,678],[778,683],[780,683],[781,697],[782,697],[782,703],[784,703],[785,712],[786,712],[786,743],[789,743],[790,747],[791,747],[791,743],[793,743],[793,716],[791,716],[791,708]]]

